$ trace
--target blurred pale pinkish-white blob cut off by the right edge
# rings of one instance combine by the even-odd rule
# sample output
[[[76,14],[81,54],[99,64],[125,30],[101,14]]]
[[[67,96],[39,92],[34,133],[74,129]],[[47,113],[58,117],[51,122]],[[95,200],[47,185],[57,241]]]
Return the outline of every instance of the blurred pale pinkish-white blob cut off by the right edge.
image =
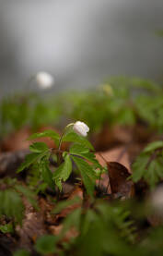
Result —
[[[151,194],[152,207],[158,212],[163,213],[163,185],[160,185]]]

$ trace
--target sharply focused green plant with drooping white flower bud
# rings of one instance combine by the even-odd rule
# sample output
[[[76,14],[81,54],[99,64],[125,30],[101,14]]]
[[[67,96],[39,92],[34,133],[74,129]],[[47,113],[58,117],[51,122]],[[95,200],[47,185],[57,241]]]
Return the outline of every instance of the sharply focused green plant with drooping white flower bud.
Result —
[[[17,172],[29,168],[39,170],[40,179],[50,186],[52,189],[55,185],[62,190],[62,182],[65,182],[73,171],[72,162],[76,164],[76,169],[79,171],[83,184],[87,189],[88,194],[93,194],[95,181],[97,179],[97,168],[101,168],[99,162],[95,158],[93,147],[90,142],[84,137],[87,135],[87,126],[82,122],[70,124],[64,128],[63,134],[60,136],[53,130],[46,130],[41,133],[35,133],[30,136],[29,140],[49,137],[54,140],[58,149],[49,149],[43,142],[34,142],[30,145],[31,153],[27,155],[25,162],[19,166]],[[68,151],[62,151],[62,143],[71,142]],[[50,168],[50,157],[55,161],[55,169]],[[92,163],[89,165],[88,162]]]

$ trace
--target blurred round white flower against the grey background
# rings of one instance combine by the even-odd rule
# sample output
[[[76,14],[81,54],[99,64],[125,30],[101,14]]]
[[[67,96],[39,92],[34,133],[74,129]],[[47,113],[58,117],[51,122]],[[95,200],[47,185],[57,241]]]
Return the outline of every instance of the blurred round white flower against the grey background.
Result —
[[[41,89],[46,90],[52,87],[54,79],[51,74],[41,71],[36,74],[36,82]]]

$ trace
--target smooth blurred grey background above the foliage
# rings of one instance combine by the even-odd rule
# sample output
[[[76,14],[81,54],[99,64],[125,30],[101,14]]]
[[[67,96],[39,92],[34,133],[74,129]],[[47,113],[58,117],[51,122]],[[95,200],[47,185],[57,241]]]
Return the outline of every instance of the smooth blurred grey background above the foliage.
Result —
[[[55,90],[163,78],[162,0],[0,0],[0,93],[45,70]]]

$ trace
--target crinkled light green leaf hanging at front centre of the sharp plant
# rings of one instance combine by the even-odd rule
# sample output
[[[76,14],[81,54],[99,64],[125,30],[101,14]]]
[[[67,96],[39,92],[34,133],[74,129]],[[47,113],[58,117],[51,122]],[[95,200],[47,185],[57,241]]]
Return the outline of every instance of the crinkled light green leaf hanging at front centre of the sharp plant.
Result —
[[[64,163],[60,165],[53,174],[53,180],[57,187],[62,190],[62,181],[67,180],[72,172],[72,162],[68,154],[64,157]]]

